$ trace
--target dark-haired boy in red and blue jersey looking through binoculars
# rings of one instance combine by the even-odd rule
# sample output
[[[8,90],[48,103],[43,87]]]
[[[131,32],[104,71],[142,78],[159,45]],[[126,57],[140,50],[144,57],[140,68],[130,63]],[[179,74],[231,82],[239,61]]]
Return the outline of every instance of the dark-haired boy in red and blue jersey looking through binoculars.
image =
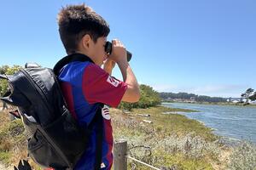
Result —
[[[59,75],[61,88],[69,111],[81,126],[88,125],[96,115],[99,103],[117,107],[120,101],[137,102],[139,86],[127,62],[125,47],[119,40],[112,41],[112,54],[105,52],[109,33],[108,23],[90,7],[70,5],[58,14],[61,41],[67,54],[83,55],[92,62],[71,62]],[[101,68],[101,65],[105,61]],[[115,63],[119,66],[124,82],[111,77]],[[101,169],[111,169],[113,163],[113,135],[108,107],[102,109],[103,141]],[[94,128],[93,128],[94,129]],[[96,163],[96,134],[75,169],[92,170]]]

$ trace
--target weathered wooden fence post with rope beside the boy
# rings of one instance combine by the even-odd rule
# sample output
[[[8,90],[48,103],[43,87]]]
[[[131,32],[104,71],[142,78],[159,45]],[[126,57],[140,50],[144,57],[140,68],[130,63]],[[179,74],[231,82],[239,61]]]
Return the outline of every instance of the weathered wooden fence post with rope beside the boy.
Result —
[[[115,141],[113,145],[113,170],[127,170],[127,141]]]

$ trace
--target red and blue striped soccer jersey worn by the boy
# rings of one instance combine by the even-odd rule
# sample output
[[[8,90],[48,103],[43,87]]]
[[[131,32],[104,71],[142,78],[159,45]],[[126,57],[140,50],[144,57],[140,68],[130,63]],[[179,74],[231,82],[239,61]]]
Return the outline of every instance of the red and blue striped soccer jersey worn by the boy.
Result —
[[[127,85],[90,61],[75,61],[65,65],[59,75],[61,90],[72,115],[81,126],[90,124],[99,103],[102,108],[103,141],[102,169],[109,170],[113,163],[113,133],[108,106],[117,107],[125,94]],[[88,149],[77,163],[75,170],[94,169],[96,158],[96,131],[90,136]]]

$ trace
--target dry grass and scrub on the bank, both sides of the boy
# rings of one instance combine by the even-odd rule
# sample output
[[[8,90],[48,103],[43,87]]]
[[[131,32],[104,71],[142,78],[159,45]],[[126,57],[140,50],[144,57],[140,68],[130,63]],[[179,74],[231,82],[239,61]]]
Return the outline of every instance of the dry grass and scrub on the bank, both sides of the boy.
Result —
[[[241,144],[230,150],[219,142],[210,128],[185,116],[162,114],[166,111],[177,110],[155,107],[124,113],[111,109],[114,139],[126,139],[131,156],[162,169],[233,170],[254,166],[255,145]],[[0,161],[17,165],[27,156],[24,128],[20,121],[9,122],[6,113],[0,114],[0,120]],[[33,169],[40,169],[29,161]],[[146,170],[148,167],[129,161],[128,169]]]

